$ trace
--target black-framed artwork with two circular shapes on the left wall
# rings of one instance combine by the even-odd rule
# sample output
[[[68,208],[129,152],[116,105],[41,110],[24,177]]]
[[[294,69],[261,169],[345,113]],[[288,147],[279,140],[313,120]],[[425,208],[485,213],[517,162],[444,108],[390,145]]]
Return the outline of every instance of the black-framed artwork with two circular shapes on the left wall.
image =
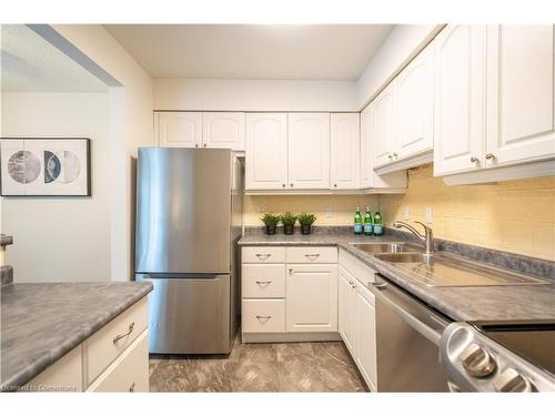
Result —
[[[91,196],[90,139],[2,138],[2,196]]]

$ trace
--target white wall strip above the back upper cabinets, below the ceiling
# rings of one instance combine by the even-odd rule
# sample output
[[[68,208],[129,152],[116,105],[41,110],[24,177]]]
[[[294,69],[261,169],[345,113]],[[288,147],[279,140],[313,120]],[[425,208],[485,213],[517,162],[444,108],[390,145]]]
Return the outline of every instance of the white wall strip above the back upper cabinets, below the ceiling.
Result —
[[[155,110],[356,111],[350,81],[155,79]]]

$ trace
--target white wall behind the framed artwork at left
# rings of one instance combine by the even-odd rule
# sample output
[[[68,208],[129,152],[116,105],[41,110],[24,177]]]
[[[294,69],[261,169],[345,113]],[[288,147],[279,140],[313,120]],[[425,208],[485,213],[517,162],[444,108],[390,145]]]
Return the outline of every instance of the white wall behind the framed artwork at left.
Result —
[[[2,93],[2,136],[90,138],[91,197],[3,197],[16,282],[109,281],[108,93]]]

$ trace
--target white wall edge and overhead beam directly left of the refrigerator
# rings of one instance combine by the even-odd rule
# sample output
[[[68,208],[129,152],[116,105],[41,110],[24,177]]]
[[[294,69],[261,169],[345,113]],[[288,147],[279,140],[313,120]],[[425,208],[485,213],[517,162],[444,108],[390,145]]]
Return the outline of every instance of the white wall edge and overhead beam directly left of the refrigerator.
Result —
[[[154,145],[152,79],[101,24],[52,28],[123,87],[110,89],[112,172],[111,273],[127,281],[134,258],[134,160],[139,146]]]

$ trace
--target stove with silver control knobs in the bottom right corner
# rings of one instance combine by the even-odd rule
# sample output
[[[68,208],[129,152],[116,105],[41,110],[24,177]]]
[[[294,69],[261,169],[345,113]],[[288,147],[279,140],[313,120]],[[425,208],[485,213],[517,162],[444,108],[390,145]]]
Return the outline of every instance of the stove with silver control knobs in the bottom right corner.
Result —
[[[555,392],[555,321],[453,323],[440,361],[453,392]]]

